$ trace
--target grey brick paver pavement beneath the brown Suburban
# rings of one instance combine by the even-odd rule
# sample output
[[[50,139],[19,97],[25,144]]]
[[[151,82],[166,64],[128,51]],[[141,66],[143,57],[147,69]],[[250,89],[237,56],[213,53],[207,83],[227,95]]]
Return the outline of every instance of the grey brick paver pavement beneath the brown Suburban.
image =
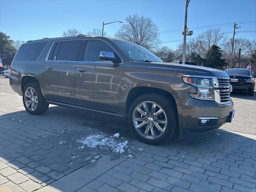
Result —
[[[202,140],[150,146],[116,117],[52,106],[24,111],[21,97],[0,93],[0,189],[20,191],[246,191],[255,189],[256,140],[218,130]],[[81,147],[92,134],[128,141],[125,152]],[[130,151],[130,153],[129,153]],[[132,154],[133,158],[128,158]],[[95,160],[94,162],[91,162]],[[69,182],[70,181],[70,182]]]

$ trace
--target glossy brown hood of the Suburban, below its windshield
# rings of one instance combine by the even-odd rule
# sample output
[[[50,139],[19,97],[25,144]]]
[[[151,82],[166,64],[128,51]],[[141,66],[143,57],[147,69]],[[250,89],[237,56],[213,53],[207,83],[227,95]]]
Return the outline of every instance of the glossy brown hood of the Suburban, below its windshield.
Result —
[[[226,72],[218,69],[209,68],[209,67],[201,67],[201,66],[186,65],[186,64],[184,65],[184,64],[176,64],[176,63],[164,63],[164,62],[151,62],[148,64],[150,64],[150,66],[154,65],[154,67],[184,70],[184,74],[187,74],[187,75],[194,75],[196,73],[198,75],[203,75],[203,76],[229,77]]]

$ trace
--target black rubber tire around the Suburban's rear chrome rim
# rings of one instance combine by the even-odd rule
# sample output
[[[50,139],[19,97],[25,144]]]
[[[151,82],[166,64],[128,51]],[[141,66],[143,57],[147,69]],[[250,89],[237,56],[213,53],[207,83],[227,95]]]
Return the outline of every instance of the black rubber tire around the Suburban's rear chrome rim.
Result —
[[[34,91],[36,92],[36,95],[37,95],[38,103],[34,110],[29,109],[25,103],[25,92],[26,92],[27,88],[30,88],[30,87],[34,89]],[[29,83],[24,87],[23,93],[22,93],[22,100],[23,100],[23,105],[24,105],[26,111],[33,115],[43,114],[44,112],[47,111],[47,109],[49,107],[49,104],[47,104],[44,101],[44,96],[42,95],[42,92],[41,92],[41,89],[40,89],[40,86],[38,85],[38,83]]]

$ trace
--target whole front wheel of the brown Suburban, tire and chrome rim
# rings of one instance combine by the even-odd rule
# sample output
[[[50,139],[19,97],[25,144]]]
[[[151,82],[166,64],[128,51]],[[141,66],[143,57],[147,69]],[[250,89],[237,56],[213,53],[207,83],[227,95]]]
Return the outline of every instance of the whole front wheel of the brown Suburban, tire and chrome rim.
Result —
[[[138,97],[130,106],[128,118],[134,134],[146,143],[167,142],[178,130],[176,104],[160,94]]]

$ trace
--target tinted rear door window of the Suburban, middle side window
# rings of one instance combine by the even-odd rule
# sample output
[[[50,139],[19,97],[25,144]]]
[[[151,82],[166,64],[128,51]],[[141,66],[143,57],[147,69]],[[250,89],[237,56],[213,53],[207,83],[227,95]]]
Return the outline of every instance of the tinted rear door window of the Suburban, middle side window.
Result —
[[[57,56],[53,55],[53,60],[59,61],[77,61],[78,49],[81,41],[63,41],[58,42]],[[60,45],[60,46],[58,46]],[[54,51],[55,52],[55,51]]]

